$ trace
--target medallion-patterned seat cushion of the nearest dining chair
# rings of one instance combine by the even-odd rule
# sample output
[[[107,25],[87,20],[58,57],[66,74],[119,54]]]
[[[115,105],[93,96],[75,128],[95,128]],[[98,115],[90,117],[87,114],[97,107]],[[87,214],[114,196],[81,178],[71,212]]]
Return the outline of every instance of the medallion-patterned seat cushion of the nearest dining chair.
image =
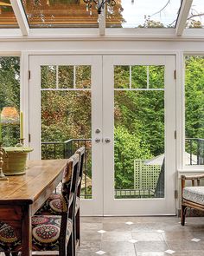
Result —
[[[67,240],[73,230],[72,220],[67,221]],[[61,216],[38,215],[32,217],[32,234],[34,251],[59,250]],[[17,239],[14,229],[3,223],[0,227],[0,246],[6,250],[16,250],[21,241]]]

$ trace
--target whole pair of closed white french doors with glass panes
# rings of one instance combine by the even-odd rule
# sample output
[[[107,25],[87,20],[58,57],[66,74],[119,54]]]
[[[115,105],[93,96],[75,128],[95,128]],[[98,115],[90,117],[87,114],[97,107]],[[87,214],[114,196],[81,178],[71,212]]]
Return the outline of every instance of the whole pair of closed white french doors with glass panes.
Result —
[[[175,57],[30,56],[32,159],[86,147],[83,215],[175,214]]]

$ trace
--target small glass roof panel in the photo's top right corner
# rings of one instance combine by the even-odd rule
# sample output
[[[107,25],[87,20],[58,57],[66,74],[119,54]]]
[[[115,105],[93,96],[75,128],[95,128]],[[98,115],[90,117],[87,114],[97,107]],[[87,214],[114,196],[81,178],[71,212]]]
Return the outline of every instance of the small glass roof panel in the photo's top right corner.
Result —
[[[194,0],[188,15],[187,27],[204,28],[204,0]]]

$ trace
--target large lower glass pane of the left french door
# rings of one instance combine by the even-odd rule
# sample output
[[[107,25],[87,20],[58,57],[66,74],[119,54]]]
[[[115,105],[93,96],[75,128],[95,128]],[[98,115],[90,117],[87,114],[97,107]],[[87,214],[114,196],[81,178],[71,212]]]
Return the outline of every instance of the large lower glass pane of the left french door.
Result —
[[[90,91],[41,91],[41,158],[68,158],[84,146],[82,197],[92,198]]]

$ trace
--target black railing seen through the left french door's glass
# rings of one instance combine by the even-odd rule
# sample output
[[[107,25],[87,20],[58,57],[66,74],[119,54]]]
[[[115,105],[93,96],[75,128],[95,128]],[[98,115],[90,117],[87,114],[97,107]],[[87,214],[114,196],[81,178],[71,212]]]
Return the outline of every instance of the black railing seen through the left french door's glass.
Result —
[[[71,139],[68,141],[41,142],[41,159],[67,159],[80,148],[85,147],[81,197],[92,198],[92,140]]]

